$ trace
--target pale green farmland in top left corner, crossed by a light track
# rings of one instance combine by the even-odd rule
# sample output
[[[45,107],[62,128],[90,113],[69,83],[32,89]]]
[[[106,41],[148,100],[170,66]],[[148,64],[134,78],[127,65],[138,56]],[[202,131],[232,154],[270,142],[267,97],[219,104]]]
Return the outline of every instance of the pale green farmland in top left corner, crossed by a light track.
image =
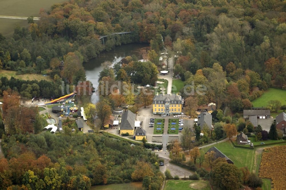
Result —
[[[51,5],[62,2],[64,2],[64,0],[2,0],[0,15],[14,17],[38,17],[41,8],[49,9]],[[6,37],[11,37],[13,35],[16,23],[19,23],[20,27],[29,26],[28,21],[22,19],[0,18],[0,23],[0,33]]]

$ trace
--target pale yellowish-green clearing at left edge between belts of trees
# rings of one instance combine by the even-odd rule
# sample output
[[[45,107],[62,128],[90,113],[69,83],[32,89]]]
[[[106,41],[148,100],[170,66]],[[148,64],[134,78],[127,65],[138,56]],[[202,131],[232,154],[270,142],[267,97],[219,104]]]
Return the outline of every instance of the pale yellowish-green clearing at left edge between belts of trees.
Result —
[[[12,19],[13,20],[13,19]],[[1,31],[0,31],[1,33]],[[12,70],[0,70],[1,76],[6,76],[8,79],[13,76],[14,78],[22,79],[22,80],[47,80],[52,81],[49,76],[43,76],[42,74],[16,74],[16,71]]]

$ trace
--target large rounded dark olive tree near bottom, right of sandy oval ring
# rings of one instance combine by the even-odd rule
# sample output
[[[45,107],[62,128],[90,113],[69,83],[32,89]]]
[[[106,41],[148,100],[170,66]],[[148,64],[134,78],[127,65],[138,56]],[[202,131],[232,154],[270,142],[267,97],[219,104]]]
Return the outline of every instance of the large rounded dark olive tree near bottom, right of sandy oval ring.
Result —
[[[218,189],[238,189],[241,171],[233,164],[219,162],[212,169],[212,183]]]

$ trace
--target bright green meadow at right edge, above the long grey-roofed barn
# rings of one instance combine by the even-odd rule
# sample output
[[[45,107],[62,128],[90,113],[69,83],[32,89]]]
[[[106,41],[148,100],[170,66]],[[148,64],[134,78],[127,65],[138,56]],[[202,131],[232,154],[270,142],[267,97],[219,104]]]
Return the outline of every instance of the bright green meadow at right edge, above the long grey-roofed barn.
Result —
[[[286,105],[286,90],[268,88],[262,96],[252,101],[254,107],[267,107],[269,100],[279,100],[282,105]]]

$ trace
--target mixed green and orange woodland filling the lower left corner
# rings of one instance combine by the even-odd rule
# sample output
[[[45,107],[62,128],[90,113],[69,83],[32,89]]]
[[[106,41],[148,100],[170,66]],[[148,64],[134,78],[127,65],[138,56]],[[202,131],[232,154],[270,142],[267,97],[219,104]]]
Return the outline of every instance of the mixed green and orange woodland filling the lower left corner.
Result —
[[[0,189],[90,189],[144,176],[159,189],[164,180],[153,152],[99,134],[3,135],[1,145]]]

